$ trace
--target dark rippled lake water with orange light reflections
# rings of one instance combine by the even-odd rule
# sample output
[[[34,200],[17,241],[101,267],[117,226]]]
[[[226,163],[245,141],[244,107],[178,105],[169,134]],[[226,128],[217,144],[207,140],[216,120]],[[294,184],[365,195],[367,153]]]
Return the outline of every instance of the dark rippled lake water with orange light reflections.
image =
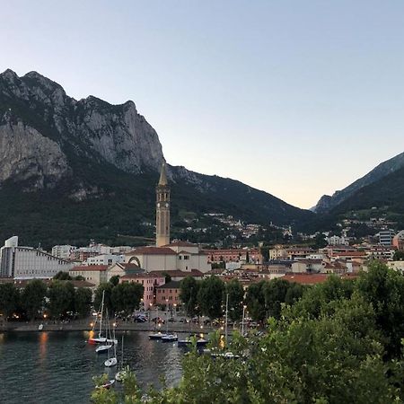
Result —
[[[169,384],[180,380],[183,350],[176,343],[151,341],[147,332],[125,331],[124,362],[135,371],[145,388],[159,385],[163,375]],[[107,369],[107,355],[95,353],[86,343],[89,333],[4,332],[0,333],[1,404],[81,404],[90,402],[92,376],[114,375]],[[120,360],[120,339],[117,356]]]

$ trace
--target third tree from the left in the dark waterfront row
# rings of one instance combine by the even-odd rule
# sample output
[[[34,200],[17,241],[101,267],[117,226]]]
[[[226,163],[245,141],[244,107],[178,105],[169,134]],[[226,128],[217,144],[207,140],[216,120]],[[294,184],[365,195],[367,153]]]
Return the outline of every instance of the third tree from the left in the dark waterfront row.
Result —
[[[53,280],[48,287],[48,311],[54,319],[75,309],[75,288],[71,282]]]

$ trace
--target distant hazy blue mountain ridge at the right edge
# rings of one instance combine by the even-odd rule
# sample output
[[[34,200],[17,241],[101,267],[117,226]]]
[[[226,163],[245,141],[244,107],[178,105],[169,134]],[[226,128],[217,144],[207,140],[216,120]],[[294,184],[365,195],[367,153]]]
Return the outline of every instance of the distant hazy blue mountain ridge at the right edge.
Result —
[[[400,170],[402,167],[404,167],[404,153],[398,154],[386,162],[382,162],[372,171],[364,175],[364,177],[348,185],[347,188],[336,191],[332,197],[329,195],[323,195],[312,210],[316,213],[327,213],[335,206],[338,206],[348,198],[352,197],[359,189],[363,189],[367,185],[382,180],[383,177],[386,177],[394,171]]]

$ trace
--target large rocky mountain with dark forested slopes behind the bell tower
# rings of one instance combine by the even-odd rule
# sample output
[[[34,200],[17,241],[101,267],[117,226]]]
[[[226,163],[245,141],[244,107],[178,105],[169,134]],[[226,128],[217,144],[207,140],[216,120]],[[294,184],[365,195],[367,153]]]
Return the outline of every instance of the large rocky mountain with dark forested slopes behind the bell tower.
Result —
[[[36,72],[19,77],[6,70],[0,156],[0,240],[20,234],[24,243],[48,246],[127,242],[119,234],[153,237],[154,187],[164,157],[133,101],[76,101]],[[212,212],[258,224],[300,226],[312,218],[239,181],[168,168],[174,234],[184,224],[206,224],[204,214]]]

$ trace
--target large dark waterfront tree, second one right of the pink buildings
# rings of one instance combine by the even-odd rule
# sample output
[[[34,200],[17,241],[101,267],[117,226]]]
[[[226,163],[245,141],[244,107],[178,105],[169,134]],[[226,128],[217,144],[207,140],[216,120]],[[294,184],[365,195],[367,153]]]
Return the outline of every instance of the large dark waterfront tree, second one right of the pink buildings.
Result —
[[[208,277],[201,281],[198,291],[198,306],[209,319],[222,316],[224,282],[218,277]]]

